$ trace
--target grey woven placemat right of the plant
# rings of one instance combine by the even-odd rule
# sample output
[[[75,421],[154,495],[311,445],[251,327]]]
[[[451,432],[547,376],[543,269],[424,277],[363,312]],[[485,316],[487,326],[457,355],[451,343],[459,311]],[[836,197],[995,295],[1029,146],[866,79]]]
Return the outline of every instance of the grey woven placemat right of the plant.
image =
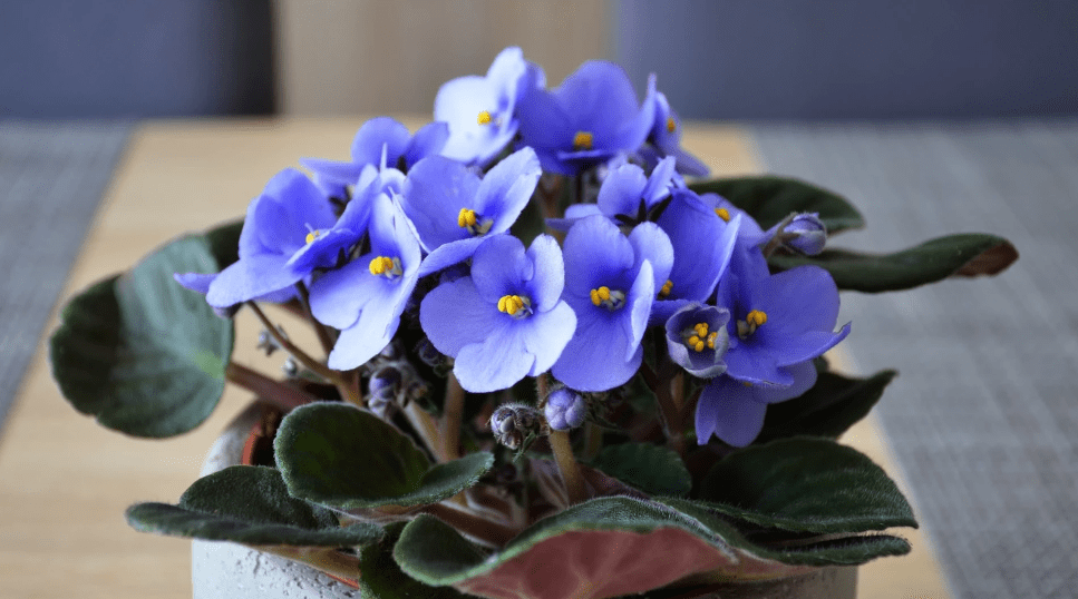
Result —
[[[892,251],[1010,238],[997,278],[847,294],[847,348],[902,375],[878,406],[955,596],[1078,597],[1078,121],[757,126],[769,170],[833,188]]]

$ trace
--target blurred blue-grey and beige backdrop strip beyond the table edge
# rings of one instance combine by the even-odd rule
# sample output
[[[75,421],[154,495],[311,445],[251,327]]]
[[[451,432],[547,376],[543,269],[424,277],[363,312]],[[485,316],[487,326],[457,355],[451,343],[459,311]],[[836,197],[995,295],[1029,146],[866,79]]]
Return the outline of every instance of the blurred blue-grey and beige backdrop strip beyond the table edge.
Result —
[[[41,0],[0,4],[0,116],[428,114],[509,45],[649,72],[689,118],[1072,115],[1068,0]]]

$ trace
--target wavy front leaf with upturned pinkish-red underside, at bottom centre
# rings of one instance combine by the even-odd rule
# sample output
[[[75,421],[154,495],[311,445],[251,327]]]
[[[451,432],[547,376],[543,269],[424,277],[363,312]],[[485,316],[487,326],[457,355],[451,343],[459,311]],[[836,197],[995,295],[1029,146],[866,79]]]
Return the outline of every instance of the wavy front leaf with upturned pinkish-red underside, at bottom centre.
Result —
[[[483,597],[585,599],[640,593],[693,575],[777,578],[909,550],[886,536],[768,548],[691,502],[605,497],[540,520],[494,553],[423,514],[405,527],[394,558],[427,585]]]

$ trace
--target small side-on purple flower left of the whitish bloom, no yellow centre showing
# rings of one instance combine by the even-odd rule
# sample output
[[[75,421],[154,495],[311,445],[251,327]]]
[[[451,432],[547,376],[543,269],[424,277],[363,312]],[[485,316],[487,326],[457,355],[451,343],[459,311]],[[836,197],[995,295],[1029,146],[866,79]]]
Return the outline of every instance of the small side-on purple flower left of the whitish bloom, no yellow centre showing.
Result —
[[[352,159],[347,163],[304,158],[300,164],[314,171],[314,181],[331,197],[347,197],[346,187],[356,185],[367,166],[408,170],[426,156],[441,151],[449,137],[445,122],[431,122],[412,136],[389,117],[368,120],[352,139]]]

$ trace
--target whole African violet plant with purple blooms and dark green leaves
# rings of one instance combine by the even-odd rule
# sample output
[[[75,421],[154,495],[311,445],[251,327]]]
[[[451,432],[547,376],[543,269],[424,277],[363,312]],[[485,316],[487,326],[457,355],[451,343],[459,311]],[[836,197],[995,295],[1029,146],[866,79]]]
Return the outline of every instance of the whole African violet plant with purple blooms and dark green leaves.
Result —
[[[608,62],[548,90],[509,48],[434,114],[415,135],[366,122],[351,160],[282,170],[242,223],[68,304],[54,373],[105,426],[183,433],[226,382],[283,416],[261,462],[133,527],[386,598],[615,597],[909,551],[881,531],[915,527],[910,505],[836,442],[895,374],[829,370],[839,289],[996,274],[1008,242],[825,248],[856,209],[793,179],[684,179],[707,169],[654,77],[638,104]],[[231,361],[240,310],[283,380]]]

